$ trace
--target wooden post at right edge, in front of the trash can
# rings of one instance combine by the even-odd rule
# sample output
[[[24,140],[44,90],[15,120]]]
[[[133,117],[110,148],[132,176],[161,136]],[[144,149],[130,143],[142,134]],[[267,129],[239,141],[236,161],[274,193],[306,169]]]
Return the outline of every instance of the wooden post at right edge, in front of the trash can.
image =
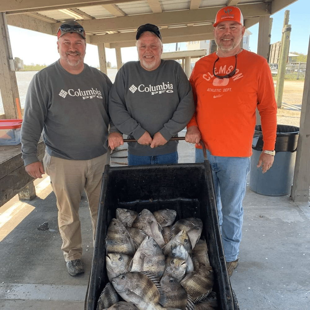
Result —
[[[310,55],[310,38],[308,55]],[[307,202],[310,189],[310,57],[307,58],[306,68],[294,179],[291,190],[291,197],[295,202]]]

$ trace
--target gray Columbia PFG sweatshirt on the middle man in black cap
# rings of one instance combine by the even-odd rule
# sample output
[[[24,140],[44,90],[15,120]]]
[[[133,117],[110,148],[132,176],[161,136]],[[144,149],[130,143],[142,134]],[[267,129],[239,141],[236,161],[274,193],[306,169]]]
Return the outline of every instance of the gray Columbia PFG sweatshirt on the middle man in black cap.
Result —
[[[129,139],[138,140],[145,131],[169,140],[178,135],[195,110],[193,92],[182,67],[175,60],[162,60],[153,71],[139,61],[125,63],[117,72],[109,94],[109,113],[114,125]],[[150,148],[128,144],[133,155],[154,156],[177,150],[177,141]]]

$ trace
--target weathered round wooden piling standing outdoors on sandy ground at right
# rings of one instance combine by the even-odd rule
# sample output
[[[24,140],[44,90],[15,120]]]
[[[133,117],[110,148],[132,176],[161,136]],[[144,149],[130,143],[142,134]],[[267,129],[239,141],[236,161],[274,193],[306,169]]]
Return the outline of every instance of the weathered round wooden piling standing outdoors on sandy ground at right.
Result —
[[[291,30],[292,30],[291,25],[286,25],[282,30],[282,33],[284,33],[284,38],[283,38],[283,45],[281,48],[280,62],[278,64],[278,76],[277,76],[278,80],[275,94],[278,108],[281,108],[282,105],[284,76],[286,70],[287,57],[289,55]]]

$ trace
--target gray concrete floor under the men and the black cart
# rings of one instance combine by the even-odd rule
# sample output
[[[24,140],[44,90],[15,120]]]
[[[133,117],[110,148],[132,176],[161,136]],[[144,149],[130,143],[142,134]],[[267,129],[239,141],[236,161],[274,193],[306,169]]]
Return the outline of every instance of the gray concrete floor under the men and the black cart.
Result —
[[[180,141],[179,163],[194,162],[193,154],[193,145]],[[49,178],[37,181],[37,194],[29,203],[14,197],[0,208],[0,309],[82,310],[93,251],[86,197],[80,205],[86,272],[71,277]],[[231,277],[240,309],[310,310],[309,203],[259,195],[248,186],[243,206],[239,266]],[[50,230],[37,229],[44,222]]]

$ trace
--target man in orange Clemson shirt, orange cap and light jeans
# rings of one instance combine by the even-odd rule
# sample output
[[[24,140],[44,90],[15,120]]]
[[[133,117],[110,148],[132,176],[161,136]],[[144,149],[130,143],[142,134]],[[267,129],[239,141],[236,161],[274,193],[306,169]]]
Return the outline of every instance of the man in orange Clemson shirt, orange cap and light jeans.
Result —
[[[241,11],[220,9],[213,26],[218,51],[198,60],[191,74],[197,108],[185,141],[196,143],[196,162],[204,160],[200,139],[206,145],[231,276],[238,264],[255,111],[258,108],[261,116],[264,141],[258,167],[265,173],[275,154],[277,104],[266,59],[240,48],[245,31]]]

